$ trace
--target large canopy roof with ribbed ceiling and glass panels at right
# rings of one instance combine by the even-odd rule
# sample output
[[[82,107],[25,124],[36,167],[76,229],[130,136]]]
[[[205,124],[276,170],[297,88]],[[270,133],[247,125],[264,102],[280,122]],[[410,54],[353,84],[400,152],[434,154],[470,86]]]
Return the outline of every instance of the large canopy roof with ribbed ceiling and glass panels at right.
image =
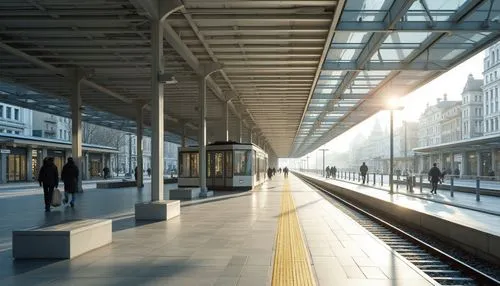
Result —
[[[150,98],[153,0],[0,1],[0,100],[68,116],[71,77],[84,120],[133,131]],[[165,128],[196,139],[197,70],[208,81],[208,134],[223,103],[279,157],[304,155],[499,38],[492,0],[184,0],[164,23]],[[19,89],[12,89],[15,86]],[[56,100],[51,99],[53,97]],[[62,100],[61,100],[62,99]],[[145,124],[150,125],[146,110]],[[212,131],[211,131],[212,130]]]

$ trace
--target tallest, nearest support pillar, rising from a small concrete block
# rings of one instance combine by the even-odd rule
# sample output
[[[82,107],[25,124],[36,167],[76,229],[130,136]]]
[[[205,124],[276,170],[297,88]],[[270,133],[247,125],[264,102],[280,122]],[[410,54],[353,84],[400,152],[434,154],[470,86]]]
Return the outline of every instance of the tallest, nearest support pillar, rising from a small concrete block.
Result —
[[[151,153],[151,200],[163,201],[163,83],[158,80],[163,74],[163,25],[159,19],[151,20],[151,109],[152,109],[152,138]]]

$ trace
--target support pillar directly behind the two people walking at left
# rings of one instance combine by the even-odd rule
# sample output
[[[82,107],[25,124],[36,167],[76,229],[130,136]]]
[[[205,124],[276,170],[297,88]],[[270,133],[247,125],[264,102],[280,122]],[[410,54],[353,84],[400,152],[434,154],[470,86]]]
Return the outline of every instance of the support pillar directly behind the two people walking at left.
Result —
[[[84,174],[88,173],[88,166],[83,166],[83,149],[82,149],[82,97],[80,94],[80,82],[83,79],[83,74],[79,70],[75,70],[71,85],[73,95],[71,96],[71,155],[76,166],[79,169],[77,192],[83,192],[82,179]],[[45,157],[44,157],[45,158]]]

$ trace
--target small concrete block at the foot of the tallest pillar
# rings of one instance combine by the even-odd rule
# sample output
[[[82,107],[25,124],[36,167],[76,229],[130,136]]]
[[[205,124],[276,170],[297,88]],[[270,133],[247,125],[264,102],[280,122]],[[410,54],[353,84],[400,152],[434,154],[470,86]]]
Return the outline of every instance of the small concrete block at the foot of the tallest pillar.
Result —
[[[136,220],[169,220],[180,214],[181,202],[179,200],[135,204]]]

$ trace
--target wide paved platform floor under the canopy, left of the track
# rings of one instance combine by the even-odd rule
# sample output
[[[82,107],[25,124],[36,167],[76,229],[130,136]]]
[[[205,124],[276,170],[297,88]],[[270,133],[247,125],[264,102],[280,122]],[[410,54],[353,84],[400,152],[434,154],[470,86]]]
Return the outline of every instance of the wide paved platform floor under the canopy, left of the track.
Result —
[[[148,188],[89,190],[48,214],[41,195],[0,199],[0,285],[433,285],[293,175],[139,223]],[[113,219],[113,243],[72,260],[12,259],[12,229],[69,218]]]

